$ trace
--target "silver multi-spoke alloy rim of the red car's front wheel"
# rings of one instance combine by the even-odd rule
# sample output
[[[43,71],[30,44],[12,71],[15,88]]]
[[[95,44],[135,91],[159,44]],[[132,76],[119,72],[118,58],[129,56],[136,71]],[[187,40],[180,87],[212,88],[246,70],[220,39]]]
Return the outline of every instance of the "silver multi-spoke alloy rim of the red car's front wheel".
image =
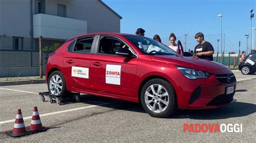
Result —
[[[160,84],[152,84],[146,89],[145,102],[149,110],[155,113],[161,113],[169,105],[169,94]]]

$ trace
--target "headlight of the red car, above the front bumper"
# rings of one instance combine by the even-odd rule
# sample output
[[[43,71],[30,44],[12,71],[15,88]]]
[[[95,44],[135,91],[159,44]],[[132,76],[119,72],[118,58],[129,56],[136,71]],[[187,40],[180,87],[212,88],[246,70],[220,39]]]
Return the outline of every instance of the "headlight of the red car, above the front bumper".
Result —
[[[177,69],[185,75],[187,78],[190,78],[191,80],[196,80],[197,78],[207,78],[210,76],[210,73],[206,73],[201,70],[192,69],[192,68],[184,68],[184,67],[178,67]]]

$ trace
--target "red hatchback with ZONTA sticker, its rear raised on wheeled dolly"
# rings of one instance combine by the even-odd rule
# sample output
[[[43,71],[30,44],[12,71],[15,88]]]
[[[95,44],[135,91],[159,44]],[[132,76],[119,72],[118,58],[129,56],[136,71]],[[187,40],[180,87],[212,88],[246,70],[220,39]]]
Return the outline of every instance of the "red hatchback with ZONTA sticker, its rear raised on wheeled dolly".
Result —
[[[51,94],[71,91],[139,102],[153,117],[233,103],[237,83],[220,63],[181,56],[151,38],[120,33],[68,39],[49,56],[45,75]]]

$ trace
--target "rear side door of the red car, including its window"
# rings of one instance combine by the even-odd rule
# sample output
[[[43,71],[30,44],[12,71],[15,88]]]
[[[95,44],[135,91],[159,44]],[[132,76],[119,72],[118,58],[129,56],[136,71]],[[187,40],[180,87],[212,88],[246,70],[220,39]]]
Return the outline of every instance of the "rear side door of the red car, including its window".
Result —
[[[72,88],[90,89],[93,45],[95,45],[95,35],[78,38],[72,42],[64,54],[64,70]]]

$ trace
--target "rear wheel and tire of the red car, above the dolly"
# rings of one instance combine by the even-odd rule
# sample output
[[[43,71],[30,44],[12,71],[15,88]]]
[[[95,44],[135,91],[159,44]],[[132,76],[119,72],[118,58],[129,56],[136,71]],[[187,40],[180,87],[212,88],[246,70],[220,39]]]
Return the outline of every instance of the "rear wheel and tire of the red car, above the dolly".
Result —
[[[66,93],[66,82],[63,74],[56,70],[48,78],[48,90],[53,95],[63,95]]]

